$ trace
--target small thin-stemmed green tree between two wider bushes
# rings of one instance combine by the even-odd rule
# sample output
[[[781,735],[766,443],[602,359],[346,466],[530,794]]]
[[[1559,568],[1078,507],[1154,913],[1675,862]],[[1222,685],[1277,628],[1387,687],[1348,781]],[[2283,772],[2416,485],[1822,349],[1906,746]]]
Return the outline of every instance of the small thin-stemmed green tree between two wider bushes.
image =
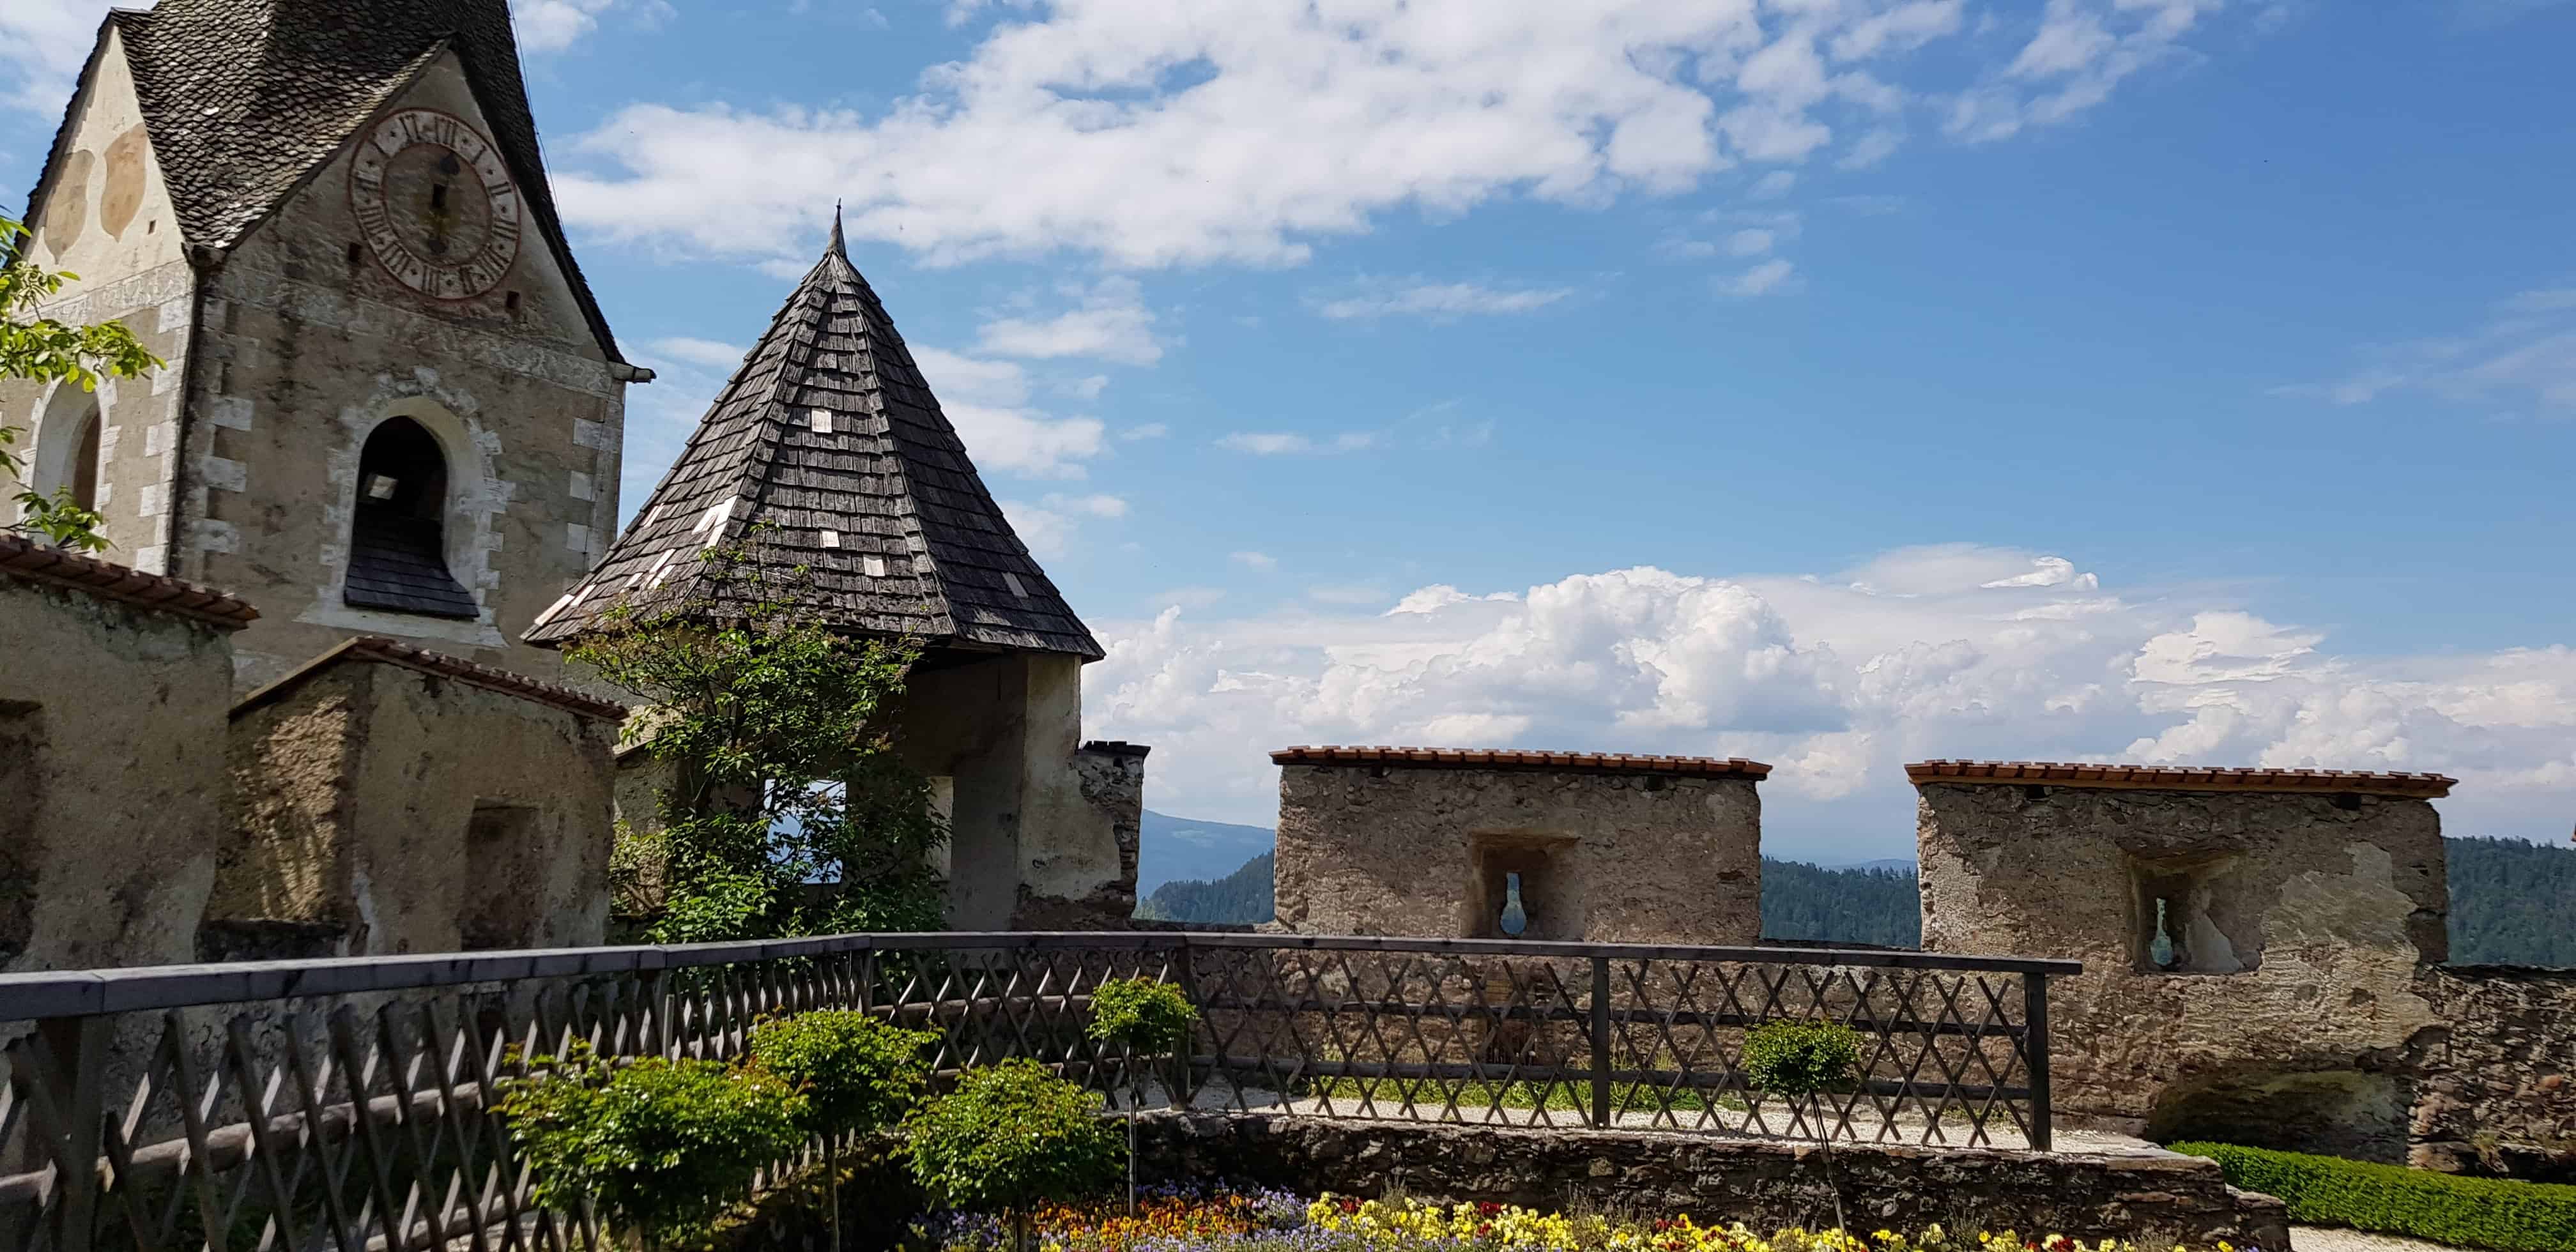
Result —
[[[824,1211],[840,1249],[840,1141],[912,1113],[930,1087],[925,1056],[940,1036],[866,1012],[799,1012],[752,1030],[752,1059],[806,1097],[804,1128],[822,1139]]]

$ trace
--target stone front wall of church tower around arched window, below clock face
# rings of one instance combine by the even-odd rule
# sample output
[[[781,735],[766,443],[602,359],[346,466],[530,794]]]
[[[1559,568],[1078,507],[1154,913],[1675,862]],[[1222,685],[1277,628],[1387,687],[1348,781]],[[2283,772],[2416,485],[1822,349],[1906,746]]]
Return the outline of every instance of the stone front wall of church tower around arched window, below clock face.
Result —
[[[456,54],[389,108],[489,134]],[[343,152],[206,278],[173,572],[268,613],[240,639],[240,690],[353,634],[551,678],[559,657],[518,639],[613,538],[626,384],[536,232],[495,291],[433,301],[350,263],[348,180]],[[343,603],[358,456],[389,417],[446,456],[446,562],[474,621]]]

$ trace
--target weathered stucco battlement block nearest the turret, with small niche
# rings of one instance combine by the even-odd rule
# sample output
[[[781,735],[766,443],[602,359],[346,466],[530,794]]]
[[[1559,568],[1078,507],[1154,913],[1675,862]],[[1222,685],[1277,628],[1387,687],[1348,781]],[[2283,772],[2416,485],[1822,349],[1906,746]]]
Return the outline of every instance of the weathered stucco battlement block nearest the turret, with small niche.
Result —
[[[1278,925],[1311,935],[1754,943],[1762,801],[1749,778],[1283,765]],[[1492,878],[1492,881],[1489,881]]]

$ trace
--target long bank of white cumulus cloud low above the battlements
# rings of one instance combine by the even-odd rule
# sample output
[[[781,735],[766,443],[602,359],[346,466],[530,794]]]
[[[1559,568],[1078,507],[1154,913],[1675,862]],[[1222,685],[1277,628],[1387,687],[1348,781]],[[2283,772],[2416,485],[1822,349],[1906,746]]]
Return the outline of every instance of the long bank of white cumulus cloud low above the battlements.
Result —
[[[1193,613],[1108,626],[1084,716],[1159,745],[1157,804],[1198,817],[1262,819],[1265,752],[1298,742],[1770,760],[1765,824],[1808,855],[1904,850],[1901,765],[1924,757],[2439,770],[2463,778],[2442,801],[2463,835],[2563,837],[2576,806],[2576,649],[2349,657],[2324,631],[2110,593],[2035,551]]]

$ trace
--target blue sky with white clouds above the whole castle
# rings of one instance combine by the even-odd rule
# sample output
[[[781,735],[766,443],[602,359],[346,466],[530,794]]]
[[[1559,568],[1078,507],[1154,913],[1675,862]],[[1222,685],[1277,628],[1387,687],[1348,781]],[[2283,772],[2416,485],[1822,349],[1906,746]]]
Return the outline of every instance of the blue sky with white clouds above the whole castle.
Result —
[[[95,0],[0,13],[0,185]],[[1110,647],[1087,732],[2442,770],[2576,822],[2576,5],[544,0],[626,505],[822,247]]]

